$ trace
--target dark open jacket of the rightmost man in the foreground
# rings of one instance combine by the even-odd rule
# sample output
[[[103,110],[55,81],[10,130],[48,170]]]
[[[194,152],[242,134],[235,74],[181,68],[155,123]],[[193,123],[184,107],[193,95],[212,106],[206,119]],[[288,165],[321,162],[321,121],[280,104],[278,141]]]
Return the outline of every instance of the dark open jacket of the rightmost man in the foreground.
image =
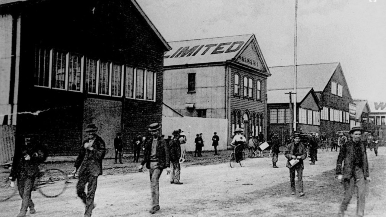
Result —
[[[355,146],[359,146],[356,149]],[[361,159],[354,159],[357,155],[356,150],[361,151],[359,154]],[[354,162],[359,160],[359,168],[362,168],[364,177],[369,177],[369,163],[367,161],[366,146],[361,142],[354,142],[352,140],[347,141],[339,150],[336,174],[343,175],[343,179],[349,179],[355,175]],[[344,161],[343,173],[342,173],[342,162]]]

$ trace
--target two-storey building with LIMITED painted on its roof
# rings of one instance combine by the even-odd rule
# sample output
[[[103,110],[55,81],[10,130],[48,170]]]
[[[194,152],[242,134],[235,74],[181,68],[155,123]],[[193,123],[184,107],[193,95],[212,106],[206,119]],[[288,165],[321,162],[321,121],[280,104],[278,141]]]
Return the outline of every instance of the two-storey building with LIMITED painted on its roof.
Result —
[[[238,127],[247,129],[246,136],[266,134],[266,81],[271,74],[254,35],[169,44],[165,104],[185,116],[228,119],[228,138]]]

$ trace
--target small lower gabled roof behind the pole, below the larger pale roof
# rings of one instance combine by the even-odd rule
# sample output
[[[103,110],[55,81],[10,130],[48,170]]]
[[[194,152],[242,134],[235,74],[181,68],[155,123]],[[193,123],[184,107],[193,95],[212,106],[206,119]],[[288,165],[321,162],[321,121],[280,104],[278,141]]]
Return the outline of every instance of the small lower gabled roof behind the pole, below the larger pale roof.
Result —
[[[289,92],[293,92],[293,89],[268,90],[267,104],[289,103],[289,94],[286,94]],[[296,89],[296,103],[301,103],[308,96],[308,94],[312,94],[316,103],[318,104],[318,107],[322,108],[322,104],[320,104],[318,96],[316,95],[312,87]]]

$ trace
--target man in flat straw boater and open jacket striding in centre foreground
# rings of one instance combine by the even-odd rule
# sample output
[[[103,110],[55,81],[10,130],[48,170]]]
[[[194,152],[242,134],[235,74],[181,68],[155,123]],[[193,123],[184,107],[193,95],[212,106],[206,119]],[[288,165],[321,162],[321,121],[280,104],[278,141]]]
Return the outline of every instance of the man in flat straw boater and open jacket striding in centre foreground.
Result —
[[[159,210],[159,177],[162,171],[166,168],[170,173],[169,148],[165,140],[160,135],[161,124],[152,123],[149,125],[149,133],[151,136],[146,138],[144,160],[139,165],[138,171],[142,172],[143,166],[150,172],[150,188],[152,196],[152,207],[149,210],[151,214]]]

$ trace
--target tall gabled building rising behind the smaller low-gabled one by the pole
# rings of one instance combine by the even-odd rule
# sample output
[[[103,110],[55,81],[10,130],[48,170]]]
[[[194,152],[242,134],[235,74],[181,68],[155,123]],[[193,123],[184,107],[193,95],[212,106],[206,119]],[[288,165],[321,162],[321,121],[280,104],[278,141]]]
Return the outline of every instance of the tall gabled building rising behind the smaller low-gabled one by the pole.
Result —
[[[293,66],[269,68],[272,76],[267,89],[293,89]],[[339,62],[297,66],[297,88],[313,88],[321,105],[319,132],[328,138],[336,138],[339,130],[349,130],[349,106],[353,104],[342,67]],[[308,119],[310,114],[306,114]],[[298,123],[298,126],[301,125]]]

